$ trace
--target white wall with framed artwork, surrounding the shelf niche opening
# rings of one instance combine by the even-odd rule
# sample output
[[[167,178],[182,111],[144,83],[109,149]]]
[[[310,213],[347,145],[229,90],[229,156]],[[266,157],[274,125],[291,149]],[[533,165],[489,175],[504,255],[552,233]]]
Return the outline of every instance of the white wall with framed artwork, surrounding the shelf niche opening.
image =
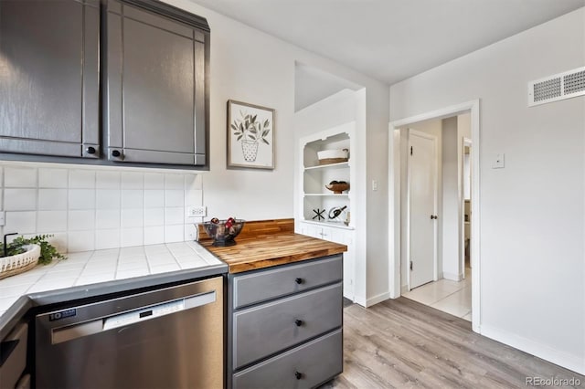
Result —
[[[188,0],[165,1],[206,17],[211,28],[211,169],[203,177],[207,216],[252,220],[293,216],[295,61],[364,87],[366,110],[357,115],[363,115],[366,129],[357,148],[367,154],[358,162],[357,176],[367,191],[356,195],[356,212],[367,217],[363,226],[356,226],[362,232],[356,249],[367,250],[364,294],[369,304],[388,299],[388,220],[380,217],[388,215],[388,85]],[[262,55],[250,55],[250,50]],[[229,99],[276,110],[274,171],[226,169]],[[378,191],[371,190],[373,179]]]

